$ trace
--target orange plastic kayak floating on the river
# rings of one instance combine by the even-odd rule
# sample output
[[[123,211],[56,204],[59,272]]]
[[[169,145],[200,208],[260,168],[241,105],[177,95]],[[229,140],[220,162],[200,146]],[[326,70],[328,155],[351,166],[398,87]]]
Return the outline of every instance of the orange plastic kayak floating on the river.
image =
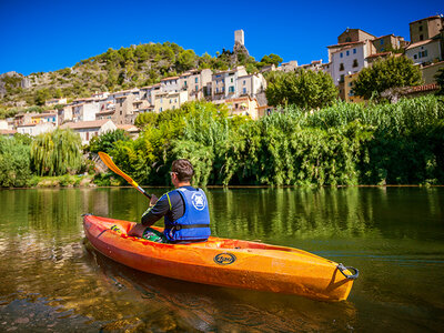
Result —
[[[99,252],[135,270],[172,279],[343,301],[359,275],[356,269],[315,254],[259,242],[211,236],[202,243],[154,243],[129,236],[133,224],[91,214],[83,218],[84,233]],[[111,230],[113,225],[119,230]]]

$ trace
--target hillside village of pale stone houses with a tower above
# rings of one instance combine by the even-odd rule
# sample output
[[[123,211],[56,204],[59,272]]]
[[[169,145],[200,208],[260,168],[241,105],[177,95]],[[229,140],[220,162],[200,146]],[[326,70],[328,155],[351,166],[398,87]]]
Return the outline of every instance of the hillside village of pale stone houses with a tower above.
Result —
[[[259,119],[273,112],[265,97],[269,71],[292,72],[299,69],[329,73],[346,102],[362,102],[353,92],[353,82],[363,68],[381,58],[406,57],[421,68],[424,84],[404,91],[418,95],[438,89],[434,75],[444,68],[444,18],[433,16],[410,23],[410,42],[403,37],[386,34],[375,37],[361,29],[346,29],[337,43],[327,46],[329,61],[314,60],[300,65],[296,60],[248,73],[243,65],[226,71],[210,69],[190,70],[178,77],[163,78],[159,83],[117,92],[97,92],[90,98],[68,102],[65,98],[46,101],[46,107],[63,105],[42,113],[18,113],[0,120],[3,135],[14,133],[36,137],[60,127],[80,133],[82,144],[97,135],[115,129],[125,130],[137,138],[140,129],[134,125],[139,114],[179,109],[183,103],[198,100],[224,103],[231,114]],[[234,32],[234,49],[246,52],[244,31]]]

